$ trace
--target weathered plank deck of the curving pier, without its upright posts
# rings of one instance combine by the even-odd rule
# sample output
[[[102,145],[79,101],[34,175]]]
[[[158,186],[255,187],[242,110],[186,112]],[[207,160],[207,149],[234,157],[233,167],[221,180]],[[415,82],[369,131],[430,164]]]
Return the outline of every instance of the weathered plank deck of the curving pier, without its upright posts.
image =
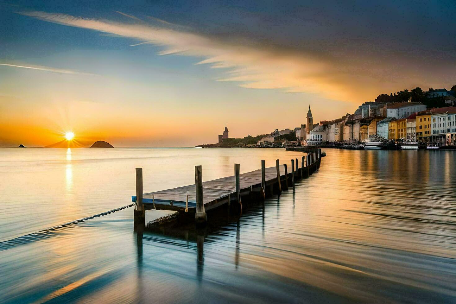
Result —
[[[320,166],[321,149],[287,148],[287,150],[305,152],[307,155],[306,157],[303,156],[299,161],[296,159],[294,168],[287,168],[286,165],[280,164],[275,167],[264,168],[264,185],[262,185],[263,169],[238,175],[238,187],[236,184],[236,176],[234,175],[203,182],[203,210],[208,211],[223,204],[229,204],[232,201],[237,202],[238,196],[236,189],[239,189],[239,197],[250,195],[252,192],[262,192],[265,196],[268,196],[272,194],[273,188],[280,193],[282,188],[287,189],[289,185],[292,185],[295,178],[308,177]],[[292,163],[293,162],[294,160]],[[300,164],[298,165],[298,163]],[[137,196],[132,196],[132,201],[136,202]],[[196,212],[197,185],[187,185],[174,189],[145,193],[142,195],[142,204],[144,205],[145,210],[156,208]]]

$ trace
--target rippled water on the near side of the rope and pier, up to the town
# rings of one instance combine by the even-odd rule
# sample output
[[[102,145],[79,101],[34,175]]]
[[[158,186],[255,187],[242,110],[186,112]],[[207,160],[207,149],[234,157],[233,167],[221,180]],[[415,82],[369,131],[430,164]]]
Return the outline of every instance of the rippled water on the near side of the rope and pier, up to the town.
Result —
[[[132,232],[129,208],[0,251],[0,300],[454,302],[454,151],[326,153],[211,231]]]

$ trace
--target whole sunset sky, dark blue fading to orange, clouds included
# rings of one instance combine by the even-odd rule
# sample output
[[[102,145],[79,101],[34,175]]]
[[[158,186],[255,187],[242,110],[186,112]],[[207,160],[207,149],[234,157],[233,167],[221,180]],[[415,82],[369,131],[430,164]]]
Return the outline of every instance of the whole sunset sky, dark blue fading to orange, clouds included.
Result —
[[[305,123],[309,105],[330,120],[380,93],[451,87],[455,13],[452,1],[1,2],[0,141],[72,129],[192,146],[224,123],[264,134]]]

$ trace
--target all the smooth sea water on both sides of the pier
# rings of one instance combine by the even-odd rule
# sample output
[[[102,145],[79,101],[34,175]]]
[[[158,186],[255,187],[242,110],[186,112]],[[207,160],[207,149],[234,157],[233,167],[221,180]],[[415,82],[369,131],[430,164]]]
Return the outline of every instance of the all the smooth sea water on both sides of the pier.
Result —
[[[283,149],[0,149],[0,302],[456,301],[456,151],[326,149],[280,198],[196,238],[133,232],[144,190]],[[149,218],[166,211],[148,211]],[[39,232],[39,233],[34,233]],[[25,236],[25,237],[24,237]]]

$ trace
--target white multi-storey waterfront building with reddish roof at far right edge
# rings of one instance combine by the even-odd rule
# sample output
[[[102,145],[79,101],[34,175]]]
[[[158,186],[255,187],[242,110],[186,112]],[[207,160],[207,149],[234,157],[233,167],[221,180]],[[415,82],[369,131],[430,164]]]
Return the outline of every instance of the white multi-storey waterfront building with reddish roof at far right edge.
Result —
[[[454,143],[456,136],[456,107],[431,109],[431,141],[438,144]]]

